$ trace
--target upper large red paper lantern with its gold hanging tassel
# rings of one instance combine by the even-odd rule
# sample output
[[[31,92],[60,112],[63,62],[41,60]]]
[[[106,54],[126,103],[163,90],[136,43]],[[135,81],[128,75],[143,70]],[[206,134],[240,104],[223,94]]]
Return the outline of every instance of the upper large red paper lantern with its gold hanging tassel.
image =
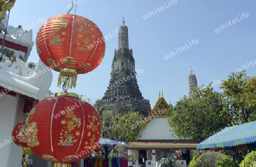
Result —
[[[49,18],[36,36],[40,59],[60,72],[58,86],[75,87],[77,74],[95,69],[105,55],[105,40],[91,20],[62,14]]]

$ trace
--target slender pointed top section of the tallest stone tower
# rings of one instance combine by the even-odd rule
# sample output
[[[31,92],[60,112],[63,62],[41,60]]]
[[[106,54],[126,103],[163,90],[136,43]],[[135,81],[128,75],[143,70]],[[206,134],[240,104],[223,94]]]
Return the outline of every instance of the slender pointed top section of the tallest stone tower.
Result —
[[[129,49],[128,28],[125,25],[125,18],[123,18],[123,24],[118,32],[118,49],[122,48]]]

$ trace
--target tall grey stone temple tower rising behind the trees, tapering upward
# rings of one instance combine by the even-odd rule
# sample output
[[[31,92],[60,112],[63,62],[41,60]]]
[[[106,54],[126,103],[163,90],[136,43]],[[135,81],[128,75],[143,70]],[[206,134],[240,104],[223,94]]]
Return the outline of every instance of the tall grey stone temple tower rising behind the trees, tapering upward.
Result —
[[[136,71],[133,50],[129,49],[128,28],[123,18],[118,32],[118,49],[114,51],[108,90],[101,100],[96,101],[95,107],[121,114],[139,111],[143,116],[147,116],[148,110],[151,110],[150,101],[142,97],[136,79],[139,71]]]

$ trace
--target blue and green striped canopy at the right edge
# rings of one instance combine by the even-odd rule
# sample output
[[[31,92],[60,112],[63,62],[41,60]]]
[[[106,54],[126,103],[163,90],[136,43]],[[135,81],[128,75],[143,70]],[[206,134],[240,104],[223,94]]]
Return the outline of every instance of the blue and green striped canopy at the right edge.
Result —
[[[226,127],[224,130],[197,144],[196,149],[234,147],[254,143],[255,141],[256,121]]]

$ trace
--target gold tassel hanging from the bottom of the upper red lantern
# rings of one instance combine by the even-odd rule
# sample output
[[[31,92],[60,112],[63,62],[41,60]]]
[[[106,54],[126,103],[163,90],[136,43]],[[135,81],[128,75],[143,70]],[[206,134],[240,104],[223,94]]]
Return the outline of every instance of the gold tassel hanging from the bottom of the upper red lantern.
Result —
[[[64,68],[60,70],[57,86],[61,87],[61,84],[64,83],[63,87],[72,89],[72,87],[76,87],[76,80],[77,80],[76,70]]]

